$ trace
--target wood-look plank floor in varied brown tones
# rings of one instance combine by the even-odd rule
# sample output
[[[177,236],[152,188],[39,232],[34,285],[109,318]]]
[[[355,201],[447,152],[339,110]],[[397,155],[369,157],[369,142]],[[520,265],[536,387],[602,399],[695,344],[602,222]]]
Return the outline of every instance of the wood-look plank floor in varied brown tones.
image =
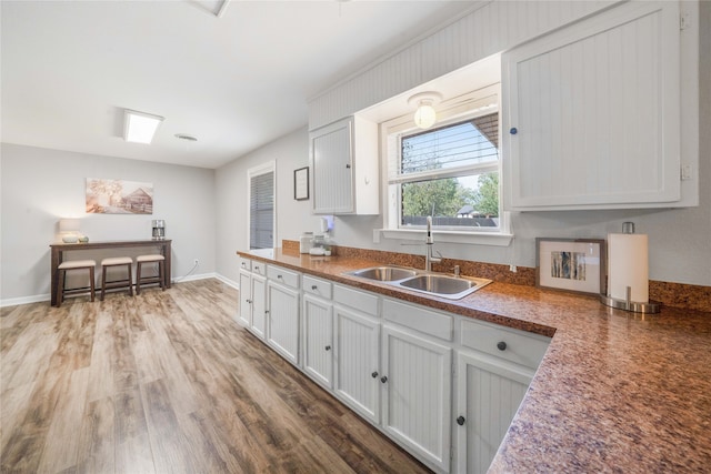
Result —
[[[242,330],[218,280],[0,316],[2,473],[428,472]]]

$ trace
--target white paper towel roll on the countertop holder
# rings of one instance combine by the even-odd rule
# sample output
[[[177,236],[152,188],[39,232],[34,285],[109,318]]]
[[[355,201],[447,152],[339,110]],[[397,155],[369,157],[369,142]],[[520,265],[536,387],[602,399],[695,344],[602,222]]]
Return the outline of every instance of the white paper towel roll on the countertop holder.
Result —
[[[608,234],[608,296],[649,302],[649,250],[645,234]]]

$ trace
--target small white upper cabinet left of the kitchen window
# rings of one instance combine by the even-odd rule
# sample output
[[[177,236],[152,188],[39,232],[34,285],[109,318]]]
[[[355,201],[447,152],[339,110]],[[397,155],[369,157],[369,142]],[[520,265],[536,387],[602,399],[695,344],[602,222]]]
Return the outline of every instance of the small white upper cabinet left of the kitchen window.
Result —
[[[349,117],[309,134],[316,214],[378,214],[378,125]]]

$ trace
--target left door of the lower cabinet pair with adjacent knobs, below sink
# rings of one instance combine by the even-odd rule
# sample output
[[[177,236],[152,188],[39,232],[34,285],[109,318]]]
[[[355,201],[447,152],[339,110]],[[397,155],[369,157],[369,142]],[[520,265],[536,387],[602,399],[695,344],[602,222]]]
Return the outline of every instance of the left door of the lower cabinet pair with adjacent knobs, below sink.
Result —
[[[338,304],[336,395],[361,416],[380,423],[380,323]]]

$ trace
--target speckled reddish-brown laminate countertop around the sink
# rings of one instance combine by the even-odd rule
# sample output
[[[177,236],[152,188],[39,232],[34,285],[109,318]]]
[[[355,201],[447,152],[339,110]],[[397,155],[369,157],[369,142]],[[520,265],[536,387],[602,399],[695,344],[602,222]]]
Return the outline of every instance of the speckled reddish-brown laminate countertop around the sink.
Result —
[[[381,262],[238,254],[553,336],[490,472],[711,472],[711,313],[633,314],[505,283],[451,301],[342,274]]]

